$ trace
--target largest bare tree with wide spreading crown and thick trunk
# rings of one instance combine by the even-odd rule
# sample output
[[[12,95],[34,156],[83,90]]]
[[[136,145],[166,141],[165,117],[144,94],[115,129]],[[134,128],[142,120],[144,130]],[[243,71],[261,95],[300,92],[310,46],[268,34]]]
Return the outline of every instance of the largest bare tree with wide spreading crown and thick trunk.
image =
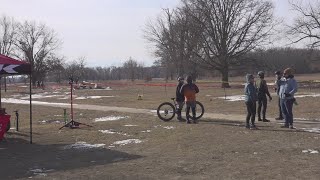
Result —
[[[184,0],[189,16],[201,29],[201,64],[222,74],[229,87],[229,71],[241,58],[265,45],[274,28],[273,4],[269,0]]]

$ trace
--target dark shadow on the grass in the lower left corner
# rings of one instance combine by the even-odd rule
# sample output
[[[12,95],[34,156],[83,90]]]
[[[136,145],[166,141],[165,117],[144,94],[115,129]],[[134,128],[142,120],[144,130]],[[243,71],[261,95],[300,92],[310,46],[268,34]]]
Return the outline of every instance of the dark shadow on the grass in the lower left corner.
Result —
[[[50,172],[80,169],[141,158],[120,151],[64,149],[66,144],[29,144],[18,138],[0,142],[1,179],[28,178]]]

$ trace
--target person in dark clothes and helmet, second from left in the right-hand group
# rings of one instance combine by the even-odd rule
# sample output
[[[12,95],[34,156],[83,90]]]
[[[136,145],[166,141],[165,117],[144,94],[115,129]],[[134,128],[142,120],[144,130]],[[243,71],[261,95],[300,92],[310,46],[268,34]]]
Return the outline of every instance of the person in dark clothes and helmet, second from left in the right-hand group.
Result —
[[[258,121],[263,122],[270,122],[266,119],[266,112],[267,112],[267,105],[268,100],[267,96],[269,97],[269,101],[272,100],[272,97],[268,90],[268,85],[266,80],[264,80],[264,72],[258,72],[259,79],[256,81],[256,89],[258,93]],[[261,119],[261,109],[262,109],[262,119]]]

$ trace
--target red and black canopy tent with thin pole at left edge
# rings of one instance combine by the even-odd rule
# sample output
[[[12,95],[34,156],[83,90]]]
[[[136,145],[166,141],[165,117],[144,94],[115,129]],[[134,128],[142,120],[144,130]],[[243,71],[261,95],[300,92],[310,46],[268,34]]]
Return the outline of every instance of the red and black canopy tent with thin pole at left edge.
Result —
[[[29,75],[30,76],[30,144],[32,144],[32,76],[31,65],[24,61],[19,61],[0,54],[0,78],[4,75]],[[0,81],[1,82],[1,81]],[[1,84],[0,84],[0,109],[1,106]]]

